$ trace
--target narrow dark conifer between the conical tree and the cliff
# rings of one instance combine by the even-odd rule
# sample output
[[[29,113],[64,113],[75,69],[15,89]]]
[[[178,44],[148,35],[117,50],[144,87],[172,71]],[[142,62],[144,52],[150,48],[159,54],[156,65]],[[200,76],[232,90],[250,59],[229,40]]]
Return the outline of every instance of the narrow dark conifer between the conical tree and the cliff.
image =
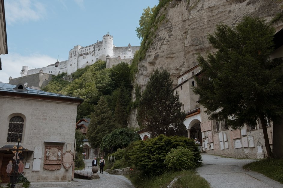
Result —
[[[115,124],[117,128],[126,128],[128,126],[128,106],[130,103],[131,93],[129,90],[126,90],[123,84],[119,88],[118,92],[119,95],[116,101],[116,107],[114,111]]]

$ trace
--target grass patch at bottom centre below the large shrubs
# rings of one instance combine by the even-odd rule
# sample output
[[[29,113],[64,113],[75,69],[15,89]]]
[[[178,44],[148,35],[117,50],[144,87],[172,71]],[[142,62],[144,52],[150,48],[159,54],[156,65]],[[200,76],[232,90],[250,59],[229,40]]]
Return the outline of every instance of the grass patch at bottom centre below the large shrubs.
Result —
[[[166,188],[175,177],[179,177],[173,187],[190,187],[190,188],[209,188],[209,183],[196,174],[194,170],[183,170],[178,172],[166,172],[154,178],[141,177],[139,174],[128,175],[135,187],[137,188]]]

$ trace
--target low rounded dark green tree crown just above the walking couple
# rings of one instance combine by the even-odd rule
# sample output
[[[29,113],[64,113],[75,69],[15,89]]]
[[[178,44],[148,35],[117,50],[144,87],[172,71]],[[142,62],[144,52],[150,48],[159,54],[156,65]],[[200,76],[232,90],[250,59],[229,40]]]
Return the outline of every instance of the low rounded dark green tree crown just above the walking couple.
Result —
[[[125,148],[130,142],[141,140],[141,137],[129,128],[119,128],[103,137],[100,149],[117,151],[118,148]]]

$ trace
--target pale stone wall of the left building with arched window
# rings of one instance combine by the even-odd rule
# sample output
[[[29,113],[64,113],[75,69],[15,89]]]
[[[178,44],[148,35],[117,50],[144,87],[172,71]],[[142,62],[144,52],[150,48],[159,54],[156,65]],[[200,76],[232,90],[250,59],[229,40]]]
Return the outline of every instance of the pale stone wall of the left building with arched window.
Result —
[[[0,146],[15,144],[7,141],[9,119],[22,116],[24,129],[21,145],[31,151],[42,148],[40,169],[33,171],[33,152],[24,154],[23,162],[30,162],[30,168],[24,169],[25,177],[31,182],[71,181],[72,166],[59,170],[44,170],[45,146],[62,146],[62,156],[66,151],[74,152],[75,124],[77,104],[52,100],[39,100],[17,97],[0,98]],[[4,110],[5,109],[5,110]],[[48,142],[47,142],[48,141]],[[57,143],[56,143],[57,142]]]

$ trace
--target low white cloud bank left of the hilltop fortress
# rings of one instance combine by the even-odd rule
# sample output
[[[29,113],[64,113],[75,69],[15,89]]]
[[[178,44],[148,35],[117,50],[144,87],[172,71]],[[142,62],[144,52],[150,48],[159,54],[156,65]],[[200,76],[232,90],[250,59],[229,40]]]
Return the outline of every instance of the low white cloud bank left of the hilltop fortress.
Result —
[[[1,55],[2,70],[0,71],[0,81],[9,83],[9,77],[18,78],[23,66],[29,66],[29,69],[46,67],[55,63],[56,59],[42,54],[32,54],[22,56],[16,53]]]

